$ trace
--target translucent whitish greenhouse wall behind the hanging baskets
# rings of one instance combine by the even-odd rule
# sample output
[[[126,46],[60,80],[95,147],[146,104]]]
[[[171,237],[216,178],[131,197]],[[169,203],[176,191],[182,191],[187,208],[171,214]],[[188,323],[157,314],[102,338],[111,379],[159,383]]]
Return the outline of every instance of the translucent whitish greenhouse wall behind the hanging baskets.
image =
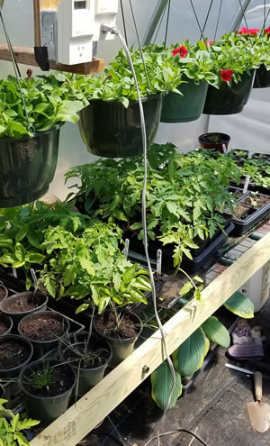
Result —
[[[248,13],[248,25],[250,27],[260,27],[263,22],[262,8],[264,0],[254,0],[252,10]],[[124,0],[126,23],[128,29],[129,44],[137,41],[134,26],[130,16],[129,3]],[[211,4],[211,0],[193,0],[199,21],[203,25]],[[133,0],[132,5],[139,27],[139,36],[142,39],[148,29],[148,23],[153,14],[157,0]],[[209,21],[205,29],[205,36],[210,40],[214,37],[217,23],[220,0],[214,0]],[[269,7],[269,5],[267,5]],[[224,32],[228,32],[231,24],[238,14],[238,1],[223,1],[220,15],[220,25],[217,37]],[[33,18],[32,0],[5,0],[3,7],[4,21],[11,41],[14,45],[33,46]],[[161,43],[165,35],[165,19],[161,24],[157,34],[157,42]],[[121,15],[119,14],[118,26],[122,28]],[[177,40],[196,41],[200,38],[200,31],[195,21],[189,0],[172,0],[172,10],[168,29],[167,44],[175,43]],[[0,41],[4,42],[4,33],[0,27]],[[106,62],[114,57],[120,48],[119,41],[99,44],[98,56]],[[22,74],[26,72],[27,66],[21,66]],[[39,69],[33,68],[34,74],[39,73]],[[13,73],[12,64],[0,62],[1,77],[6,77]],[[269,89],[270,90],[270,89]],[[258,150],[266,151],[268,143],[268,120],[270,116],[268,90],[257,91],[253,94],[245,112],[240,115],[230,117],[211,117],[211,130],[228,132],[232,136],[232,144],[236,147],[257,147]],[[165,124],[161,123],[158,133],[158,142],[172,141],[180,150],[186,151],[197,146],[197,137],[205,131],[207,119],[205,116],[194,123]],[[67,123],[61,130],[59,159],[56,177],[51,184],[50,193],[64,198],[67,194],[67,187],[64,186],[63,174],[71,166],[92,162],[96,157],[90,155],[81,141],[76,125]]]

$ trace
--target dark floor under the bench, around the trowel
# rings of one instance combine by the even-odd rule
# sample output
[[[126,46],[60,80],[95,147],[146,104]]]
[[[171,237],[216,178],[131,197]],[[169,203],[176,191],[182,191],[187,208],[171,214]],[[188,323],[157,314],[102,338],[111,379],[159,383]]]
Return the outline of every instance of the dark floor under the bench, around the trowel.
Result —
[[[266,335],[266,362],[270,365],[270,301],[251,323],[259,323]],[[247,417],[247,402],[254,401],[253,379],[243,373],[225,368],[229,360],[226,350],[220,349],[207,369],[197,378],[189,394],[181,397],[166,414],[160,425],[161,411],[150,396],[149,380],[137,388],[109,418],[98,434],[90,433],[80,446],[144,446],[160,432],[187,428],[202,437],[208,446],[269,446],[270,430],[255,432]],[[248,367],[247,361],[233,362]],[[264,374],[264,401],[270,405],[270,376]],[[102,435],[112,434],[120,442]],[[178,433],[160,439],[161,446],[199,446],[187,433]],[[151,441],[149,446],[157,446]]]

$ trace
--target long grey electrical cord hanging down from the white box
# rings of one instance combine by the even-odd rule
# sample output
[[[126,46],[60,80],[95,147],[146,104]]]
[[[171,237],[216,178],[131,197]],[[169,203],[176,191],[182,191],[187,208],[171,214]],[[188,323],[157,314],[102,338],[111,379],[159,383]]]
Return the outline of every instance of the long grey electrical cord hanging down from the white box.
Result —
[[[146,135],[146,125],[145,125],[145,119],[144,119],[144,112],[143,112],[143,106],[142,106],[142,101],[141,101],[141,97],[140,97],[140,93],[139,93],[139,84],[138,84],[138,79],[136,76],[136,72],[135,72],[135,68],[132,62],[132,59],[130,57],[130,51],[127,47],[127,44],[121,34],[121,31],[118,30],[118,28],[116,27],[110,27],[107,25],[103,25],[103,32],[112,32],[112,34],[115,34],[118,36],[118,38],[121,40],[121,44],[122,47],[126,53],[127,59],[129,61],[130,64],[130,69],[132,72],[132,75],[134,77],[134,82],[135,82],[135,86],[136,86],[136,90],[137,90],[137,94],[138,94],[138,103],[139,103],[139,117],[140,117],[140,125],[141,125],[141,135],[142,135],[142,147],[143,147],[143,160],[144,160],[144,181],[143,181],[143,188],[142,188],[142,194],[141,194],[141,201],[142,201],[142,225],[143,225],[143,243],[144,243],[144,248],[145,248],[145,256],[147,259],[147,264],[148,264],[148,271],[149,271],[149,278],[150,278],[150,282],[151,282],[151,289],[152,289],[152,299],[153,299],[153,306],[154,306],[154,311],[155,311],[155,315],[156,315],[156,319],[157,319],[157,324],[158,324],[158,328],[161,334],[161,339],[163,342],[163,347],[164,347],[164,351],[166,354],[166,360],[168,362],[169,368],[171,370],[172,373],[172,379],[173,379],[173,386],[172,389],[170,391],[170,394],[168,396],[167,399],[167,404],[166,404],[166,409],[163,413],[163,417],[161,420],[161,423],[164,422],[165,417],[166,417],[166,413],[171,405],[171,400],[172,400],[172,396],[173,396],[173,392],[175,389],[175,383],[176,383],[176,378],[175,378],[175,368],[173,365],[173,362],[167,352],[167,348],[166,348],[166,333],[163,330],[163,325],[159,319],[159,316],[157,314],[157,295],[156,295],[156,287],[155,287],[155,281],[154,281],[154,275],[153,275],[153,271],[151,268],[151,263],[150,263],[150,259],[149,259],[149,255],[148,255],[148,236],[147,236],[147,211],[146,211],[146,194],[147,194],[147,183],[148,183],[148,158],[147,158],[147,135]],[[160,446],[160,441],[159,441],[159,429],[157,431],[157,446]]]

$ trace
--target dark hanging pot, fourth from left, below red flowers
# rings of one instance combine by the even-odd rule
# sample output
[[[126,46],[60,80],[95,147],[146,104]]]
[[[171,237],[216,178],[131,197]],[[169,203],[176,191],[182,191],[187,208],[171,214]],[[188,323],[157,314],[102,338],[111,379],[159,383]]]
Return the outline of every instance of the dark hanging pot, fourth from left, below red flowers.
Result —
[[[255,70],[252,70],[251,76],[246,72],[242,75],[241,81],[236,84],[223,82],[218,90],[214,86],[209,86],[203,114],[238,114],[242,112],[247,104],[252,91]]]

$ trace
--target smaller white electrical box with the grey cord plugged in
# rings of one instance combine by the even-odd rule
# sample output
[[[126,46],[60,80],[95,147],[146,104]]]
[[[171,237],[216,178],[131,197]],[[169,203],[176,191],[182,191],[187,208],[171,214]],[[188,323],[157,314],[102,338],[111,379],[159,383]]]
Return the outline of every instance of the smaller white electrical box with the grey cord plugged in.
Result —
[[[94,15],[94,41],[112,41],[114,35],[111,32],[102,32],[102,25],[116,25],[119,0],[95,0]]]

